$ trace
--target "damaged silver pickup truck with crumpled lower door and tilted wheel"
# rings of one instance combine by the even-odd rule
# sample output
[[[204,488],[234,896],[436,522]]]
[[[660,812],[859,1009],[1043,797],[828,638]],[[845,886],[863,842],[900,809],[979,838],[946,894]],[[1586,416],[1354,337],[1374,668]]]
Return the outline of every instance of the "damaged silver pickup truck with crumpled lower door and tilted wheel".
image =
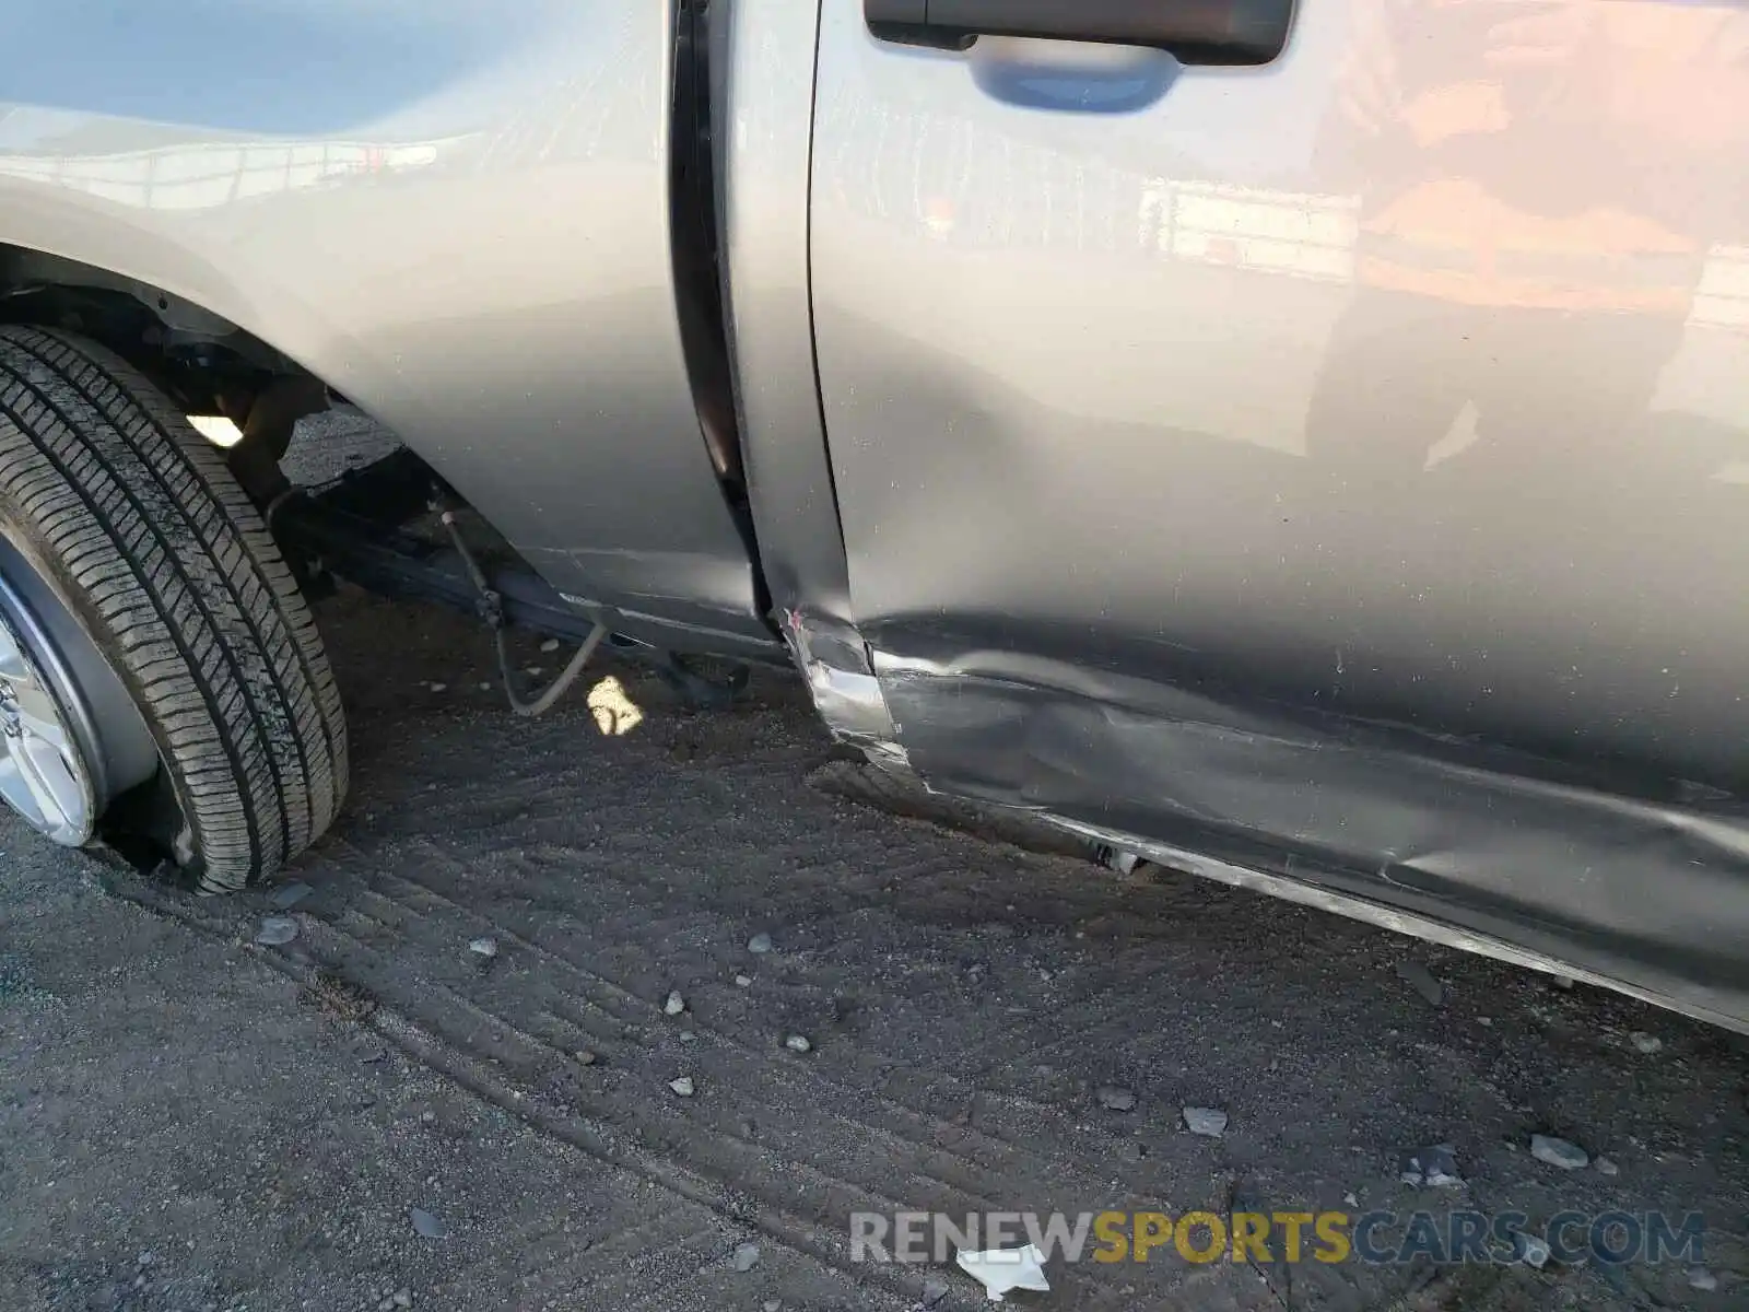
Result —
[[[1749,10],[14,0],[0,794],[205,890],[331,581],[1749,1027]],[[294,425],[404,446],[322,486]],[[215,439],[229,441],[229,446]],[[392,642],[394,635],[383,637]]]

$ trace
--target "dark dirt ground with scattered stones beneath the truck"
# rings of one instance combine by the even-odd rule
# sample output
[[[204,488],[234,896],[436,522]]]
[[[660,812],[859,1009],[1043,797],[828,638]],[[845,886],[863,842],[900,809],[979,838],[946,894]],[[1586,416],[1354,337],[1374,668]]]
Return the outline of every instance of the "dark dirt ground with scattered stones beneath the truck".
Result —
[[[287,876],[292,943],[254,943],[271,890],[185,897],[0,820],[0,1309],[972,1309],[951,1268],[850,1261],[850,1214],[1417,1207],[1700,1211],[1718,1288],[1165,1249],[1013,1300],[1749,1305],[1733,1036],[883,813],[827,787],[855,771],[778,675],[693,714],[607,663],[530,724],[462,619],[322,614],[355,778]],[[1464,1183],[1403,1183],[1438,1142]]]

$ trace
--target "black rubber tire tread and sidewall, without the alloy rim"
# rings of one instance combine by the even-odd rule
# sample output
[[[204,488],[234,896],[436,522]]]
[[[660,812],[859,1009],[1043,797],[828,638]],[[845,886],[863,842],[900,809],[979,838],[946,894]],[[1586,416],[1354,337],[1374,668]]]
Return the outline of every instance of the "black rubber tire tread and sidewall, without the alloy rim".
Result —
[[[157,388],[89,341],[0,327],[0,528],[157,743],[156,787],[112,826],[156,831],[208,892],[322,836],[346,792],[322,639],[261,513]]]

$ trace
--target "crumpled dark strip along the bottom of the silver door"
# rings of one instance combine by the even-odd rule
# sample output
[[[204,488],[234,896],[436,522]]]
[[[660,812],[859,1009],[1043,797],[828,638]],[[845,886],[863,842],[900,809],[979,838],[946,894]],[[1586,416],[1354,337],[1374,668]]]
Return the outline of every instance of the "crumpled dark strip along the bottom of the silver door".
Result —
[[[932,789],[1749,1029],[1749,810],[1712,789],[992,649],[874,665]]]

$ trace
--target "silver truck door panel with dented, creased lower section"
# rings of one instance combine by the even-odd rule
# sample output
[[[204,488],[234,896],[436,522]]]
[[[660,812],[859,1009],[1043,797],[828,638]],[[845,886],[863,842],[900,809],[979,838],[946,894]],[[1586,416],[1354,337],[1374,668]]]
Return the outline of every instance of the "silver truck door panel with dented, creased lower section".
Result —
[[[1333,0],[1214,68],[826,0],[820,390],[913,764],[1656,994],[1742,962],[1742,23]]]

